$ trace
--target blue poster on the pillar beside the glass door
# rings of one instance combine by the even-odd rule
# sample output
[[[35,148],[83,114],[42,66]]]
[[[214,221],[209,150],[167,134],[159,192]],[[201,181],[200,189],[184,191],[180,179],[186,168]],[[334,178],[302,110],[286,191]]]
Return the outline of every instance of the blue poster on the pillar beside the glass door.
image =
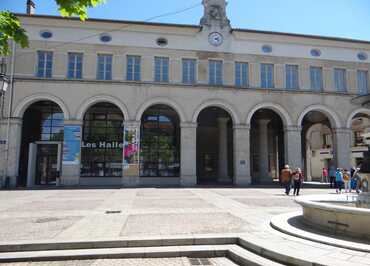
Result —
[[[79,165],[81,154],[81,126],[64,126],[63,164]]]

